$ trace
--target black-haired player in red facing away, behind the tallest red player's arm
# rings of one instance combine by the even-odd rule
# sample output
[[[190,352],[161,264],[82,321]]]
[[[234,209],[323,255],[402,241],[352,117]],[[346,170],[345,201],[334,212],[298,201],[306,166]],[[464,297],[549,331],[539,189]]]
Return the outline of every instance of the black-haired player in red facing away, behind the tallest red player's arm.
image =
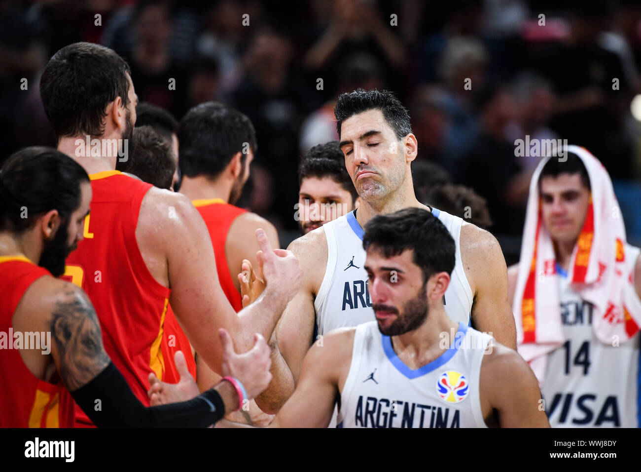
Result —
[[[265,218],[235,206],[249,178],[249,166],[256,151],[256,134],[249,118],[222,103],[201,103],[190,109],[178,127],[180,167],[183,180],[180,192],[186,195],[203,216],[216,256],[222,291],[234,310],[242,310],[237,274],[247,259],[258,267],[254,232],[263,228],[272,247],[278,247],[278,234]],[[274,340],[272,340],[273,342]],[[219,382],[197,355],[199,387],[204,391]],[[252,402],[234,421],[265,424],[264,415]]]

